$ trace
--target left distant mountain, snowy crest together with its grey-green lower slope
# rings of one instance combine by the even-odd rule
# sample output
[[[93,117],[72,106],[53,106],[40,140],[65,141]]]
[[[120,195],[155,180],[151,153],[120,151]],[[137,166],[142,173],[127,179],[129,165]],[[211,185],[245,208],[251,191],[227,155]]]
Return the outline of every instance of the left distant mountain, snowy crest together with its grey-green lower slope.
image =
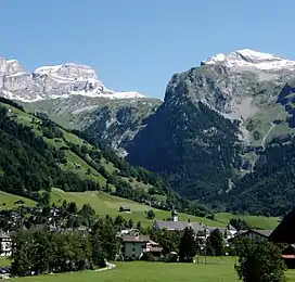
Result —
[[[15,60],[0,59],[0,95],[43,112],[66,128],[91,132],[120,154],[142,119],[162,103],[138,92],[107,89],[90,66],[66,63],[25,73]]]

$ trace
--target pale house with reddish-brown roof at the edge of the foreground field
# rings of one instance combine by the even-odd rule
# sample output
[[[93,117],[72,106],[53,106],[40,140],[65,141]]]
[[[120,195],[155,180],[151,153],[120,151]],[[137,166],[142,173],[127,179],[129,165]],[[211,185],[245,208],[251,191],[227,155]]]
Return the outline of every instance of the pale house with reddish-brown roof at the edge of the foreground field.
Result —
[[[163,248],[158,243],[150,240],[148,235],[124,235],[120,238],[120,252],[125,259],[140,259],[144,253],[150,253],[154,258],[161,258]]]

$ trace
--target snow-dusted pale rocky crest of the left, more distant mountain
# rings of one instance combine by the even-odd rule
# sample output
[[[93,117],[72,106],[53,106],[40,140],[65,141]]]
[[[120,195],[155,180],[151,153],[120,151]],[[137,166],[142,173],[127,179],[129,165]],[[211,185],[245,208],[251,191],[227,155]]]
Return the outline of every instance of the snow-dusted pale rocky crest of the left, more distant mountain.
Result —
[[[138,92],[107,89],[90,66],[66,63],[42,66],[26,73],[16,60],[0,57],[0,94],[12,100],[35,102],[72,95],[105,99],[143,98]]]

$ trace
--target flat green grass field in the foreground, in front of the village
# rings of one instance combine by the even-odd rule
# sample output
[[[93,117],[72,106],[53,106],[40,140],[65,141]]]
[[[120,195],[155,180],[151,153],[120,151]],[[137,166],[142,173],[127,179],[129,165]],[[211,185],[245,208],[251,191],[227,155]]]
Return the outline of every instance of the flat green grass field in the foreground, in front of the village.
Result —
[[[287,281],[295,281],[295,271],[287,271]],[[238,282],[233,264],[164,264],[120,262],[114,270],[101,272],[62,273],[43,277],[16,278],[16,282]]]

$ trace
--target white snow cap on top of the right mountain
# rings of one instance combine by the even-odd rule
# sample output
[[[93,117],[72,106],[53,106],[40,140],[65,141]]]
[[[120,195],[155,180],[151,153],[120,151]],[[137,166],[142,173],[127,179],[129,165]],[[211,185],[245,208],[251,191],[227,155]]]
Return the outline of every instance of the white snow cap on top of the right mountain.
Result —
[[[202,65],[216,64],[222,64],[231,68],[256,68],[260,70],[295,69],[295,61],[251,49],[238,50],[230,54],[216,54],[202,62]]]

